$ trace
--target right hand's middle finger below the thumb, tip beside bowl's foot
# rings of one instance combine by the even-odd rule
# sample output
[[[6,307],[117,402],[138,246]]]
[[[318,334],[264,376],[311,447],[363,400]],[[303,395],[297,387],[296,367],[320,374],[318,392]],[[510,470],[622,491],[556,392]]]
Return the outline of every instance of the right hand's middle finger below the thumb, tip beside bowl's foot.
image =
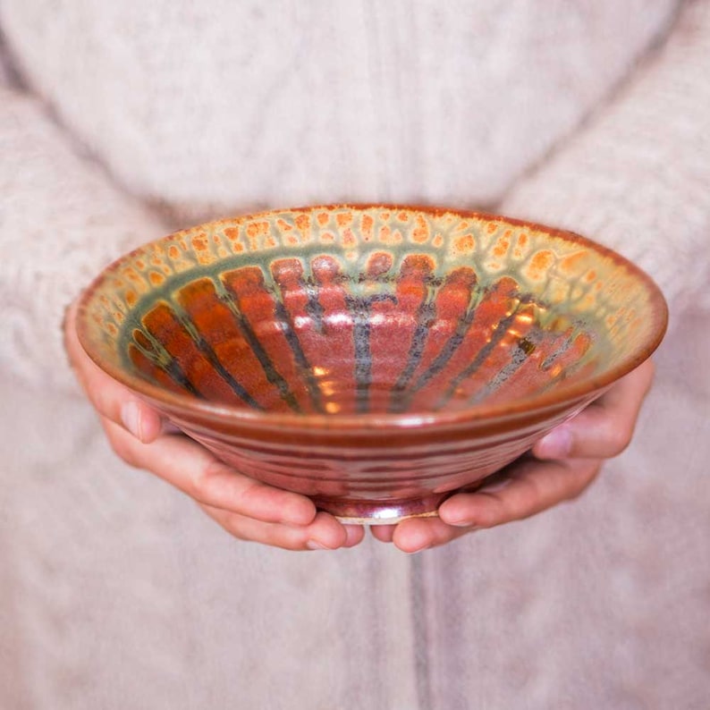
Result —
[[[452,495],[439,507],[439,516],[448,525],[464,528],[493,528],[529,518],[577,497],[596,478],[600,468],[599,461],[584,459],[520,461],[511,466],[507,483],[484,486],[475,493]]]

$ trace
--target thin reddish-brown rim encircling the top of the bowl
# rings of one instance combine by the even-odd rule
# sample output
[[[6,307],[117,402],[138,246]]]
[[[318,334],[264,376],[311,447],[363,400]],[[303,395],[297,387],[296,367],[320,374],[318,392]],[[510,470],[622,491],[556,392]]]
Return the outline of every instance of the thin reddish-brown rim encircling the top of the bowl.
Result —
[[[156,244],[174,240],[181,236],[190,234],[197,229],[206,227],[215,227],[220,224],[239,224],[241,222],[259,219],[266,216],[282,214],[284,212],[316,212],[335,211],[339,209],[352,209],[358,211],[370,209],[383,209],[388,211],[407,210],[410,212],[426,213],[430,216],[443,216],[452,214],[460,216],[462,219],[482,219],[490,221],[503,221],[511,226],[526,227],[530,230],[545,232],[551,236],[560,238],[564,241],[571,241],[584,246],[587,249],[593,249],[602,257],[611,258],[617,266],[625,268],[630,274],[637,278],[646,288],[649,299],[649,313],[652,318],[650,332],[652,337],[648,342],[637,352],[631,353],[624,359],[621,359],[613,368],[604,370],[603,373],[597,376],[586,377],[579,382],[571,385],[561,385],[554,389],[540,394],[530,394],[524,397],[519,397],[511,401],[502,401],[494,404],[481,402],[471,405],[465,409],[452,411],[426,411],[415,410],[405,413],[389,413],[389,412],[362,412],[348,414],[326,414],[326,413],[297,413],[297,412],[275,412],[251,410],[248,408],[240,408],[230,404],[217,403],[214,401],[200,400],[191,394],[175,393],[164,389],[158,385],[153,385],[147,380],[143,380],[139,376],[131,375],[123,368],[114,366],[108,359],[102,357],[97,347],[94,347],[91,336],[89,335],[88,310],[89,302],[97,290],[106,282],[108,277],[129,259],[135,258],[144,250],[149,249]],[[328,204],[306,205],[303,207],[283,207],[275,209],[264,209],[257,212],[246,212],[236,216],[223,217],[216,220],[210,220],[201,224],[180,229],[154,240],[147,241],[137,249],[123,254],[123,256],[115,259],[89,283],[84,292],[80,294],[78,308],[75,316],[75,325],[79,342],[83,350],[89,355],[89,358],[94,361],[98,368],[106,372],[117,382],[125,385],[133,391],[133,393],[142,396],[144,399],[151,401],[156,407],[164,407],[178,416],[192,414],[198,415],[201,418],[210,420],[219,420],[221,422],[231,422],[232,424],[242,424],[244,426],[264,425],[266,427],[292,427],[295,429],[314,429],[316,427],[325,429],[408,429],[424,427],[432,424],[448,424],[448,425],[465,425],[480,423],[482,421],[493,422],[495,420],[505,418],[517,418],[534,416],[537,412],[545,412],[547,410],[561,408],[565,404],[573,404],[579,401],[591,401],[598,394],[604,392],[605,389],[613,385],[614,382],[621,377],[628,375],[632,370],[638,368],[641,363],[647,360],[660,345],[664,339],[668,327],[668,304],[664,298],[657,283],[646,273],[640,266],[634,264],[630,259],[621,256],[617,251],[610,249],[596,241],[587,237],[581,236],[577,232],[571,232],[556,227],[551,227],[546,224],[520,219],[518,217],[509,217],[492,212],[461,209],[458,207],[437,207],[429,205],[406,204],[406,203],[386,203],[386,202],[336,202]],[[182,414],[184,412],[184,415]]]

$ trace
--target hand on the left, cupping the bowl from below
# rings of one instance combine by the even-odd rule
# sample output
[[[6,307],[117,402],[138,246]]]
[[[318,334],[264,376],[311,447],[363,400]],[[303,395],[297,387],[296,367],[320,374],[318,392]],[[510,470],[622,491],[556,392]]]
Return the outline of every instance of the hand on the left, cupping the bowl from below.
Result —
[[[360,526],[342,525],[317,512],[309,498],[242,476],[188,436],[166,427],[145,402],[97,367],[80,345],[67,312],[66,350],[80,383],[98,412],[108,441],[123,461],[146,469],[190,495],[227,532],[287,550],[352,547]]]

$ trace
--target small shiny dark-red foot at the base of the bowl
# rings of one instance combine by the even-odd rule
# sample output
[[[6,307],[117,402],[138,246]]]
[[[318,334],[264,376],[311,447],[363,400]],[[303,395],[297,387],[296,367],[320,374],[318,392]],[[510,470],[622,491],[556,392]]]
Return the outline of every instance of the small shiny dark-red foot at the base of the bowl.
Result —
[[[449,494],[397,501],[347,501],[314,497],[318,510],[331,513],[346,525],[395,525],[409,518],[433,518]]]

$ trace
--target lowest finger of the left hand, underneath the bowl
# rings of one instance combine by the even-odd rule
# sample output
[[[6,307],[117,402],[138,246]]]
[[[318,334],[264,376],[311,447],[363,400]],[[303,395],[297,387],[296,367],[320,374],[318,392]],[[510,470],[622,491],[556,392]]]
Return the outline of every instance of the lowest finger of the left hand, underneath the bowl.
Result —
[[[347,529],[356,526],[344,526],[325,512],[319,512],[307,526],[294,527],[254,520],[204,504],[201,507],[234,537],[284,550],[336,550],[356,544],[357,537],[362,539],[361,532]]]

